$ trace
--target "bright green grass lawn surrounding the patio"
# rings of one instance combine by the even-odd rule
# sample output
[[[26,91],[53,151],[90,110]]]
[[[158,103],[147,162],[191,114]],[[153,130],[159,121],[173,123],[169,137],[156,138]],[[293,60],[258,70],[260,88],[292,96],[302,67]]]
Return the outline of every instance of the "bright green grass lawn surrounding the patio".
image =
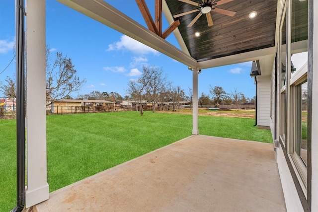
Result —
[[[254,119],[199,116],[201,135],[272,142]],[[50,192],[191,135],[192,115],[145,112],[47,116]],[[15,120],[0,120],[0,212],[15,206]]]

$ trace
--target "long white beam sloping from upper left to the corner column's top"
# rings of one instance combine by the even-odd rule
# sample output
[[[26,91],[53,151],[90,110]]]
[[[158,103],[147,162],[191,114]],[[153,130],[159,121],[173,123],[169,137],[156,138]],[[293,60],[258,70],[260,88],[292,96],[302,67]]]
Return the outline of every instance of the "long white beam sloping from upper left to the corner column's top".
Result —
[[[179,61],[180,63],[196,68],[195,59],[171,45],[146,27],[137,23],[124,13],[112,7],[103,0],[58,0],[61,3],[117,30],[159,52]]]

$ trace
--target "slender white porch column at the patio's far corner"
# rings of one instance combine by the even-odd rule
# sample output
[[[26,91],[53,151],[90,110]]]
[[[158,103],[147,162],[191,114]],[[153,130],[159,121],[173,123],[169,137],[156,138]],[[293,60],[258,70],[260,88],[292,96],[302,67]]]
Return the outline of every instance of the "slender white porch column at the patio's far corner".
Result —
[[[192,69],[192,90],[193,90],[193,100],[192,100],[192,120],[193,120],[193,128],[192,135],[199,135],[198,128],[198,69]]]

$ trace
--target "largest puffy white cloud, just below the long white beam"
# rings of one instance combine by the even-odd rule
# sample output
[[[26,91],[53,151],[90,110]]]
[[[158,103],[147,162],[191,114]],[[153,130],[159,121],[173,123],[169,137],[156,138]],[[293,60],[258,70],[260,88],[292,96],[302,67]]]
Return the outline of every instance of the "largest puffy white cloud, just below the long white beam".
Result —
[[[108,49],[106,51],[114,51],[114,50],[127,50],[131,51],[134,54],[145,55],[145,54],[158,54],[158,51],[146,46],[145,44],[136,41],[127,35],[123,35],[120,37],[120,41],[117,41],[113,44],[108,45]]]

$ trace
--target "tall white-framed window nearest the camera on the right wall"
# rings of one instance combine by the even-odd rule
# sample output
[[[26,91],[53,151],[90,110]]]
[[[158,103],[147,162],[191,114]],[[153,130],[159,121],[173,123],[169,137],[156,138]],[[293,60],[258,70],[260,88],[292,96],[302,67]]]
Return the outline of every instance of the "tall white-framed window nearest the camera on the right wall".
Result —
[[[283,132],[287,133],[288,157],[304,196],[307,198],[308,1],[289,0],[288,2],[291,9],[289,17],[291,25],[286,31],[286,35],[289,36],[286,37],[288,66],[285,69],[282,89],[284,90],[285,86],[288,95],[286,107],[289,130]]]

